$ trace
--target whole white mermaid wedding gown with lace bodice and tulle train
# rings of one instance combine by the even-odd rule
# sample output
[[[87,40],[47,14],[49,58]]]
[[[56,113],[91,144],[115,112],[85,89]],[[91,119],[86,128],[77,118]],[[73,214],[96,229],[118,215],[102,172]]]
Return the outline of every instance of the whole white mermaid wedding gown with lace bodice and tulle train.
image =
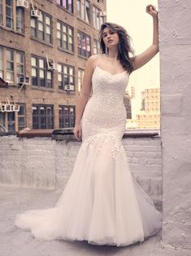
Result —
[[[162,227],[162,215],[133,178],[121,142],[128,73],[93,72],[93,94],[81,119],[82,143],[54,208],[17,214],[15,225],[43,240],[130,245]]]

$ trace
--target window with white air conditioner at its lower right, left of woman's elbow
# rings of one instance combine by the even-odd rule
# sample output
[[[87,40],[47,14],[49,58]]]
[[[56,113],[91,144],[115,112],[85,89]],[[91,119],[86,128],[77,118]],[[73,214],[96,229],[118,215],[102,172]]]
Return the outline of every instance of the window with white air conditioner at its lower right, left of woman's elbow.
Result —
[[[67,64],[59,64],[59,90],[64,90],[64,86],[75,85],[74,67]]]

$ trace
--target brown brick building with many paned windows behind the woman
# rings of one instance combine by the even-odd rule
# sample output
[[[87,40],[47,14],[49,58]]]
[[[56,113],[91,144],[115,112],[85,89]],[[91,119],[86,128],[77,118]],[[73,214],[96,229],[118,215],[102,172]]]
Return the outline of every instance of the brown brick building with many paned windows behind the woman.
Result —
[[[105,11],[105,0],[0,0],[2,127],[74,126],[85,61],[99,50]]]

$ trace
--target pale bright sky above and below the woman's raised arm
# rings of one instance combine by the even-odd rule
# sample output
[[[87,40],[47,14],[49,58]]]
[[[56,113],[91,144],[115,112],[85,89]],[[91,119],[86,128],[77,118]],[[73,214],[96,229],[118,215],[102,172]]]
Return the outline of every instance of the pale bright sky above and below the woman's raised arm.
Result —
[[[157,0],[106,0],[107,21],[124,26],[132,38],[136,54],[145,51],[152,43],[153,18],[145,12],[148,4],[158,9]],[[159,87],[159,55],[131,74],[128,91],[131,86],[135,86],[137,104],[141,104],[141,90]]]

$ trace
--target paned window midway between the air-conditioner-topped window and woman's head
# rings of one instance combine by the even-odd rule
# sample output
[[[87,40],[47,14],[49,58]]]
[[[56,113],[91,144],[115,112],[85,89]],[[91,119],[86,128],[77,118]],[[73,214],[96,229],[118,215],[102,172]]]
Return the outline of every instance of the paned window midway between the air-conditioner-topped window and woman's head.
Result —
[[[71,26],[57,22],[58,46],[67,51],[74,51],[74,31]]]

